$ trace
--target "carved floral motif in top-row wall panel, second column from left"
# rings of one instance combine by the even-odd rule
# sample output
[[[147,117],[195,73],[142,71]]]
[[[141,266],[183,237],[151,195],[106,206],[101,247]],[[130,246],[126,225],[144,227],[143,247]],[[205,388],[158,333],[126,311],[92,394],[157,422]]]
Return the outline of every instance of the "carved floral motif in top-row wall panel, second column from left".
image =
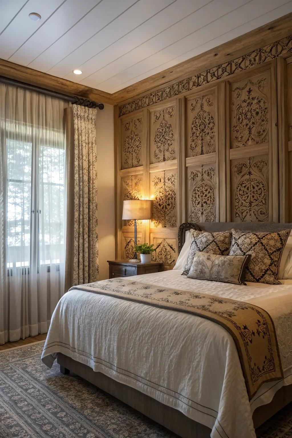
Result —
[[[168,118],[172,118],[174,116],[174,106],[169,106],[168,108],[162,109],[162,111],[154,112],[155,119],[153,124],[157,123],[162,115],[162,120],[155,131],[154,137],[154,145],[156,147],[154,160],[156,162],[172,160],[175,155],[175,148],[173,146],[174,134],[171,124],[165,119],[165,114]]]

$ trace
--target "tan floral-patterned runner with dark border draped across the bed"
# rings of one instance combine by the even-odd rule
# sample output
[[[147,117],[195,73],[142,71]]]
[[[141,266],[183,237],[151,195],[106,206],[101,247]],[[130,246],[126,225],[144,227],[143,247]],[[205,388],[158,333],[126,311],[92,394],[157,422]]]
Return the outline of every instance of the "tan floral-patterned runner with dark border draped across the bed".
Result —
[[[161,288],[125,278],[82,284],[72,289],[187,312],[222,325],[236,343],[250,399],[264,382],[283,378],[274,322],[260,307],[243,301]]]

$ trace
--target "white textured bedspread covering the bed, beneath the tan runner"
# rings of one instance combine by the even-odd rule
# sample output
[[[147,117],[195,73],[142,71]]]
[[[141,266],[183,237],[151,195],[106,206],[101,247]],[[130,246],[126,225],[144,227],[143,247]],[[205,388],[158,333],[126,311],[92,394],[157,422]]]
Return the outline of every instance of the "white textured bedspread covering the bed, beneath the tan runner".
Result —
[[[285,378],[249,401],[235,343],[204,318],[81,290],[59,301],[42,361],[60,352],[172,406],[212,429],[212,438],[255,438],[252,413],[292,383],[292,286],[236,286],[188,279],[181,271],[135,281],[256,304],[274,320]]]

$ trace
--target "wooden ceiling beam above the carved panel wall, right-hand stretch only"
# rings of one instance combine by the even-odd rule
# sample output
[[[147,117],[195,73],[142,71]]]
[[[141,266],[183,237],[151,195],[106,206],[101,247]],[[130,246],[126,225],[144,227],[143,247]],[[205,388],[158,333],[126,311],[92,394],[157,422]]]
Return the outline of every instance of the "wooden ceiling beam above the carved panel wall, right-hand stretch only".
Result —
[[[208,68],[216,67],[241,55],[252,52],[281,38],[292,34],[292,13],[277,18],[264,26],[240,35],[220,46],[201,53],[193,58],[169,67],[149,78],[129,85],[112,94],[116,103],[127,103],[133,98],[145,95],[150,91],[163,88],[179,80],[201,73]],[[165,80],[167,78],[167,81]]]

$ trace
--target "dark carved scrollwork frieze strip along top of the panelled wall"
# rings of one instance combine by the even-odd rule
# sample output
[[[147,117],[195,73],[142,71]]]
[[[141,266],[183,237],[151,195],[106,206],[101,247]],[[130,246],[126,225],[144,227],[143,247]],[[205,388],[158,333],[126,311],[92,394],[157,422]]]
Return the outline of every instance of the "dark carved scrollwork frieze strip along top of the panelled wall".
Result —
[[[120,106],[120,116],[154,103],[162,102],[165,99],[180,95],[218,79],[226,78],[231,74],[246,70],[255,65],[263,64],[291,51],[292,35],[126,103]]]

